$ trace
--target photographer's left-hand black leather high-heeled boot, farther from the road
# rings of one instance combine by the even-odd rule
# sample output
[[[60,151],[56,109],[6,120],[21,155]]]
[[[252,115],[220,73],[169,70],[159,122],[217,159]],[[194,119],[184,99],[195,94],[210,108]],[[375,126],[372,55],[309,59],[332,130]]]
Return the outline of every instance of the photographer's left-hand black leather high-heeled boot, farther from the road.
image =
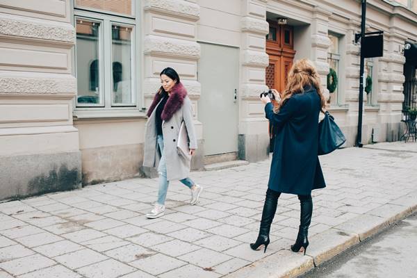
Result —
[[[277,211],[278,197],[281,193],[268,189],[266,191],[265,203],[263,203],[263,211],[261,218],[261,225],[259,227],[259,236],[255,243],[251,243],[252,250],[259,250],[261,246],[264,246],[263,252],[266,252],[266,247],[270,243],[269,233],[274,220],[275,212]]]

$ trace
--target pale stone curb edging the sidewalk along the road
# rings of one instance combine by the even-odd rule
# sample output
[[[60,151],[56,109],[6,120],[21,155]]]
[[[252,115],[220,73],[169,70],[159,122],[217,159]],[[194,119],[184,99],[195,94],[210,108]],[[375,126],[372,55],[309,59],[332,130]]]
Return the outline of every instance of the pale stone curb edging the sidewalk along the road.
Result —
[[[379,208],[383,208],[378,212]],[[306,256],[281,250],[224,278],[295,278],[417,211],[417,190],[310,238]],[[377,216],[374,214],[383,215]]]

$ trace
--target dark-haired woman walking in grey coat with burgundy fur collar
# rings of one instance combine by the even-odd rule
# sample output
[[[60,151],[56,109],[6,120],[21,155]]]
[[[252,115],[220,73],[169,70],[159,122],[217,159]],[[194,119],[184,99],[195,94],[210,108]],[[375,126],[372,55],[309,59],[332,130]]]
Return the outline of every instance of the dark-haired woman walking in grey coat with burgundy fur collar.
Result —
[[[197,149],[197,139],[193,124],[191,101],[187,90],[179,81],[179,75],[170,67],[161,74],[161,88],[149,107],[145,133],[145,167],[158,167],[159,190],[158,200],[147,218],[158,218],[164,215],[165,198],[170,181],[179,180],[191,190],[190,204],[197,203],[202,186],[192,181],[190,174],[190,158],[177,151],[177,140],[181,123],[184,122],[189,142],[190,156]]]

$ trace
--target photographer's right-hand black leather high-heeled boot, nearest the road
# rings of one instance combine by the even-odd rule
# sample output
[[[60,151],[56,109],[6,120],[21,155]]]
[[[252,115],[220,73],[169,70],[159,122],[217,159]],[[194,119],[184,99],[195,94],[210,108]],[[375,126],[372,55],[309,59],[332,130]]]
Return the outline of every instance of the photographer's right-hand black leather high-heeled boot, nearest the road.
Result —
[[[304,252],[306,254],[307,246],[309,246],[309,226],[311,223],[311,215],[313,214],[313,200],[311,195],[299,195],[300,199],[300,228],[298,229],[297,240],[291,245],[293,252]]]

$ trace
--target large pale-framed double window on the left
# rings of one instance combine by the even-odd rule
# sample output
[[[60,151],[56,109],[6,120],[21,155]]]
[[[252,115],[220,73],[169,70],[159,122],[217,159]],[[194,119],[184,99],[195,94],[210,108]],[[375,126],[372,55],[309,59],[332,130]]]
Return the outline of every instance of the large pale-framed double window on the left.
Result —
[[[133,0],[74,1],[76,107],[137,106]]]

